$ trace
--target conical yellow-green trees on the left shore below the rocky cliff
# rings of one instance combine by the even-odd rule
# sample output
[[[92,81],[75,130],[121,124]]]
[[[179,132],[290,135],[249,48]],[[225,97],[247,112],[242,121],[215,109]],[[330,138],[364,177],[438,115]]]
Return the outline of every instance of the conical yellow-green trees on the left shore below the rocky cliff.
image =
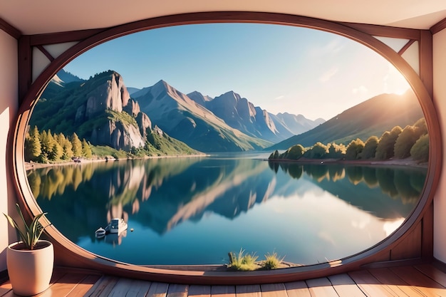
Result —
[[[91,159],[93,152],[85,138],[80,140],[76,132],[67,137],[63,133],[51,133],[49,129],[39,132],[37,126],[34,126],[26,133],[26,161],[46,163],[80,157]]]

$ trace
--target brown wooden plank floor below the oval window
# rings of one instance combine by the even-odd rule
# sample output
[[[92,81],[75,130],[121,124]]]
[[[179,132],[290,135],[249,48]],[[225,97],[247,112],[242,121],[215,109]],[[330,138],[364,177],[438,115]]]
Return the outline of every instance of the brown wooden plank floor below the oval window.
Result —
[[[0,296],[16,296],[11,283],[0,286]],[[51,286],[36,296],[91,297],[360,297],[445,296],[446,273],[432,264],[353,271],[291,283],[251,286],[197,286],[155,283],[103,276],[85,271],[56,269]]]

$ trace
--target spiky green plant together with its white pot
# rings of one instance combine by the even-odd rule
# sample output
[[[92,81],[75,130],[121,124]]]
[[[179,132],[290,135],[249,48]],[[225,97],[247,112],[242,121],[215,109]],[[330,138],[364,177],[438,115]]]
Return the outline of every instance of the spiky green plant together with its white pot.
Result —
[[[54,251],[50,241],[40,239],[46,228],[38,221],[46,213],[38,214],[27,225],[19,204],[16,209],[23,222],[19,226],[9,215],[4,214],[9,224],[16,229],[20,241],[6,249],[6,267],[11,286],[17,295],[31,296],[48,288],[53,274]]]

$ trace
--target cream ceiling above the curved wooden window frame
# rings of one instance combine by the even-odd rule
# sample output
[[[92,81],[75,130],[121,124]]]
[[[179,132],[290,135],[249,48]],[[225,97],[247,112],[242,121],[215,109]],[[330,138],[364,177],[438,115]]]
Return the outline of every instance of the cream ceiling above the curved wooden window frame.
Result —
[[[428,29],[446,18],[445,0],[0,0],[0,18],[31,35],[105,28],[201,11],[264,11],[331,21]]]

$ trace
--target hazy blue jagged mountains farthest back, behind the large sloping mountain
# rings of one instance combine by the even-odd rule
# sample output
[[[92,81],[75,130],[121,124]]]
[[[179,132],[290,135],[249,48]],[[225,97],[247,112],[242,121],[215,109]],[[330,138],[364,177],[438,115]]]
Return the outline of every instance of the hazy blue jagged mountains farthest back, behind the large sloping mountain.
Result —
[[[212,111],[230,127],[270,142],[285,140],[323,123],[321,119],[308,120],[304,115],[290,115],[289,113],[273,115],[254,106],[247,98],[242,98],[234,91],[229,91],[216,98],[204,96],[197,91],[187,94],[187,96]]]

